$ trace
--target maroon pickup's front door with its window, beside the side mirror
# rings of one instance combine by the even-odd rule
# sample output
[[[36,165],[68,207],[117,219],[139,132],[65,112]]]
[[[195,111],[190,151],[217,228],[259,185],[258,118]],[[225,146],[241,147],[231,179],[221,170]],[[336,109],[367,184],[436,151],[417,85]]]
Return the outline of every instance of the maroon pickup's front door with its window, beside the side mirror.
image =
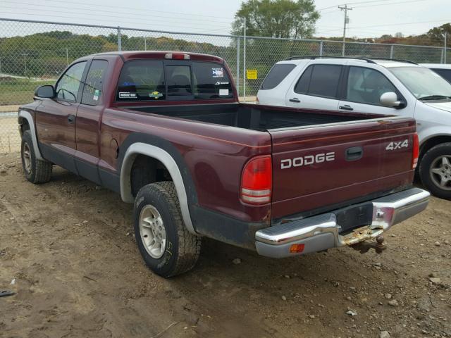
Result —
[[[87,61],[75,63],[56,82],[56,96],[42,99],[36,109],[36,129],[44,157],[75,171],[75,116]]]

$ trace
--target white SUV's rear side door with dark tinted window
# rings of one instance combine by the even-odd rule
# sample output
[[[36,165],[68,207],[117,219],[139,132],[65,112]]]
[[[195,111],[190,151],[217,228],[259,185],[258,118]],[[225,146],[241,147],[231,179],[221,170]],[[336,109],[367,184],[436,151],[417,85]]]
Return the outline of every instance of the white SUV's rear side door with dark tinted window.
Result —
[[[309,65],[292,84],[285,105],[293,108],[336,111],[342,65],[316,63]]]

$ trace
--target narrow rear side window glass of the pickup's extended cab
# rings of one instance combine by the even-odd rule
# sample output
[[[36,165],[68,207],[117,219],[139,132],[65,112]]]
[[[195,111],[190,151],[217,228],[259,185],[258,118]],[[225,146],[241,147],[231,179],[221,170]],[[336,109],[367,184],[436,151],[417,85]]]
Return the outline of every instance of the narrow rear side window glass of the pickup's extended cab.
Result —
[[[85,87],[83,87],[82,104],[97,106],[99,104],[104,84],[104,77],[108,68],[108,61],[92,61],[87,72]]]

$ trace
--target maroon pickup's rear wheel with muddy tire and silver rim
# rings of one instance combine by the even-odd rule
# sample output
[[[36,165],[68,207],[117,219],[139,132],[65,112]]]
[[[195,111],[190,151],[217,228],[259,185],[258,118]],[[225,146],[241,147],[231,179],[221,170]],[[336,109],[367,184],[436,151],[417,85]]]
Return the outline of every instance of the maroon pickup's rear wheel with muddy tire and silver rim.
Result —
[[[167,278],[194,267],[201,238],[183,223],[173,182],[142,187],[135,199],[133,217],[138,249],[154,273]]]

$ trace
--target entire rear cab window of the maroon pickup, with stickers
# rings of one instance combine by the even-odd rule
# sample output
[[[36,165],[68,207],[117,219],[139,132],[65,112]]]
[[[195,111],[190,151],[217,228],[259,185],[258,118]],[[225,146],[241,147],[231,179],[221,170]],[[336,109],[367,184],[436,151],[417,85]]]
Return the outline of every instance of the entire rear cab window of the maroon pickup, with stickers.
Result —
[[[127,61],[116,92],[116,101],[231,98],[233,87],[223,65],[202,61]]]

